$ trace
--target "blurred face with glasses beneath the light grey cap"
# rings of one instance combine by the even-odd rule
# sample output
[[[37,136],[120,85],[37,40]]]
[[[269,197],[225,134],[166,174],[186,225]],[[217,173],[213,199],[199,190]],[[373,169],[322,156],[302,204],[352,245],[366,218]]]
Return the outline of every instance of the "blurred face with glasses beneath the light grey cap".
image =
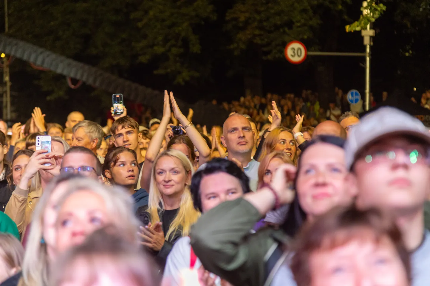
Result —
[[[428,145],[402,136],[366,148],[353,167],[357,206],[417,211],[430,195]],[[375,188],[378,186],[378,188]]]

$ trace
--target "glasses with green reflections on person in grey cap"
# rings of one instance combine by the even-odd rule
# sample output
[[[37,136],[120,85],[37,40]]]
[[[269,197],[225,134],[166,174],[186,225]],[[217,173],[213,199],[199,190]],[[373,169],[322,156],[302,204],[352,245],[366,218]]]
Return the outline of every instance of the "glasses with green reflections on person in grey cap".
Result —
[[[392,150],[375,151],[365,155],[364,160],[367,163],[386,163],[401,158],[408,164],[428,164],[429,150],[423,146],[410,146],[408,149],[396,148]]]

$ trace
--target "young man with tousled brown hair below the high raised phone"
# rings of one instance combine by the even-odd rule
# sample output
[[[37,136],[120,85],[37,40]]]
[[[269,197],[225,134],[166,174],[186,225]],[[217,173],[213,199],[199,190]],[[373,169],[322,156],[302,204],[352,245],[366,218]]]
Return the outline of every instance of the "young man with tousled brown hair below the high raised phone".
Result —
[[[139,124],[132,119],[130,116],[123,116],[114,121],[111,127],[112,136],[114,137],[114,144],[117,147],[123,146],[128,149],[132,149],[136,152],[137,162],[142,171],[143,161],[145,158],[142,156],[139,147],[139,140],[141,140],[142,134],[139,132]],[[140,178],[137,182],[137,189],[140,189]]]

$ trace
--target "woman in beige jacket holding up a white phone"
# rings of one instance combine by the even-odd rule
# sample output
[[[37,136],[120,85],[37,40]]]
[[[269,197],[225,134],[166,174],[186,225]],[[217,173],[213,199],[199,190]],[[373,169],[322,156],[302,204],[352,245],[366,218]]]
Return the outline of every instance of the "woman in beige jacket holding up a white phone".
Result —
[[[5,213],[16,223],[22,237],[43,190],[54,176],[60,174],[62,156],[69,148],[69,144],[63,138],[53,136],[51,152],[37,150],[31,155],[5,209]]]

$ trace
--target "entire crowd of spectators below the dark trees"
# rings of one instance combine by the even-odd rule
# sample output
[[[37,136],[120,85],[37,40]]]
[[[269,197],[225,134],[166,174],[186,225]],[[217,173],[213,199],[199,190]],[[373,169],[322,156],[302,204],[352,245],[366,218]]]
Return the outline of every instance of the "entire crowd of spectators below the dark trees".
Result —
[[[336,92],[0,121],[0,286],[429,285],[430,132]]]

